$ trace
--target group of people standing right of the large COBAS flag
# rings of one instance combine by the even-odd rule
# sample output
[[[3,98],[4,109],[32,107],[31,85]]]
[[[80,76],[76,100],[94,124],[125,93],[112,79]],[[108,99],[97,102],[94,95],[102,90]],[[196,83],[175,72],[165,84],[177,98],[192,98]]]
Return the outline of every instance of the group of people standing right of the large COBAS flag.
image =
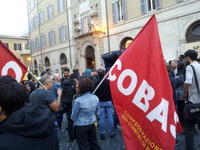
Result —
[[[186,103],[200,103],[200,59],[198,53],[195,50],[186,51],[184,55],[179,56],[179,60],[169,61],[167,70],[179,120],[185,129],[186,150],[194,150],[194,133],[199,132],[200,129],[200,114],[199,118],[195,120],[186,120],[184,108]]]

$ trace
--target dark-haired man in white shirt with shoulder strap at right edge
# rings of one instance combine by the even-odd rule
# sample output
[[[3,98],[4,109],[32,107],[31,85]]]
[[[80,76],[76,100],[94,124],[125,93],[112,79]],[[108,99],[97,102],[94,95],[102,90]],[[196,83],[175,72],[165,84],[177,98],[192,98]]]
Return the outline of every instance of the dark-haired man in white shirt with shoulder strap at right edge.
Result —
[[[184,55],[187,62],[190,64],[186,67],[184,95],[185,97],[188,96],[189,102],[193,104],[200,103],[200,94],[191,67],[192,65],[195,69],[198,85],[200,87],[200,64],[196,61],[198,54],[195,50],[190,49],[187,50]],[[194,150],[194,122],[192,121],[185,121],[185,143],[187,150]]]

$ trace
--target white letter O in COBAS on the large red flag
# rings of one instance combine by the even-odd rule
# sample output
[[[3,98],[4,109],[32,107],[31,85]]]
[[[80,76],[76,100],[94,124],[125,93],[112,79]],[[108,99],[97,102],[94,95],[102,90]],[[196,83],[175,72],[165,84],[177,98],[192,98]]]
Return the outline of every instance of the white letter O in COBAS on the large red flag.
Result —
[[[127,88],[124,88],[123,81],[127,76],[131,77],[131,82]],[[134,71],[132,71],[130,69],[124,70],[120,74],[120,76],[117,80],[117,87],[120,90],[120,92],[122,92],[124,95],[130,95],[134,91],[136,85],[137,85],[137,75],[135,74]]]

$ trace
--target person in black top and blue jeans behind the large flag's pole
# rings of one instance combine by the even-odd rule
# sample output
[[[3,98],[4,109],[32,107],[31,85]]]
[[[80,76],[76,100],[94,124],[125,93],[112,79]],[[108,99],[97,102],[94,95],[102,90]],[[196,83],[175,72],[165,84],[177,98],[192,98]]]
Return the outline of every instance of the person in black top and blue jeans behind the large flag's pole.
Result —
[[[103,79],[105,71],[98,70],[99,82]],[[110,92],[109,80],[105,79],[96,91],[96,95],[100,100],[100,119],[99,119],[99,135],[100,139],[105,139],[106,134],[106,118],[108,119],[108,134],[111,138],[115,136],[114,132],[114,119],[113,119],[113,104]]]

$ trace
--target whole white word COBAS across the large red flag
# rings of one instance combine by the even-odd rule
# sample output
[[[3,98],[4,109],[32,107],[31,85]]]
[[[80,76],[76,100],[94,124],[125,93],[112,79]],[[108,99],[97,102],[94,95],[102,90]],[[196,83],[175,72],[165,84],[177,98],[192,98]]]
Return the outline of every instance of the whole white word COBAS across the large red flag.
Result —
[[[115,81],[117,79],[116,75],[112,74],[112,71],[115,68],[115,66],[117,66],[117,70],[120,71],[122,69],[122,62],[118,59],[113,65],[113,67],[110,69],[108,78],[110,81]],[[127,76],[131,77],[131,83],[128,85],[127,88],[125,88],[123,86],[123,82]],[[135,90],[136,85],[137,85],[137,74],[131,69],[125,69],[124,71],[122,71],[117,79],[117,87],[119,91],[125,96],[131,95]],[[155,91],[153,87],[151,87],[146,80],[143,80],[132,100],[132,103],[138,108],[140,108],[142,111],[147,112],[149,110],[149,105],[150,105],[149,101],[151,101],[154,96],[155,96]],[[144,99],[144,103],[141,102],[142,99]],[[151,110],[151,112],[149,112],[146,115],[146,117],[151,122],[153,122],[154,120],[160,122],[161,129],[164,132],[167,132],[168,112],[169,112],[168,109],[169,109],[169,102],[164,98],[162,98],[160,104],[158,104],[153,110]],[[179,122],[178,116],[176,112],[174,112],[174,123],[176,124],[177,122]],[[169,128],[172,136],[176,138],[176,126],[170,124]]]

